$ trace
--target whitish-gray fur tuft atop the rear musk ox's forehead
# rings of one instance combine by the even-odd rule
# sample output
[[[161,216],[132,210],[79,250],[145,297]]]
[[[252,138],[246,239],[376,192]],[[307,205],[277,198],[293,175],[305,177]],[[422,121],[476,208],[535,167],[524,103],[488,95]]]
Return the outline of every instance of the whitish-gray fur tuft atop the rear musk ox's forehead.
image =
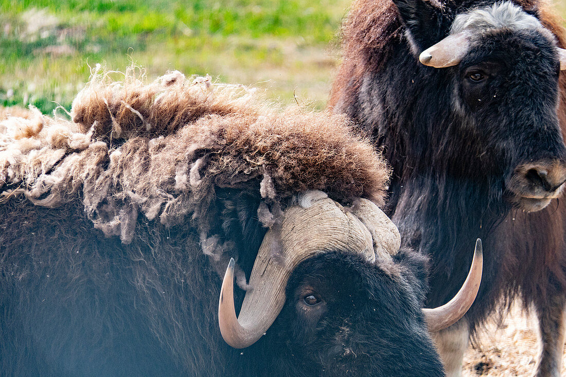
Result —
[[[450,33],[483,32],[488,29],[536,29],[542,31],[541,22],[510,1],[495,3],[456,16]]]

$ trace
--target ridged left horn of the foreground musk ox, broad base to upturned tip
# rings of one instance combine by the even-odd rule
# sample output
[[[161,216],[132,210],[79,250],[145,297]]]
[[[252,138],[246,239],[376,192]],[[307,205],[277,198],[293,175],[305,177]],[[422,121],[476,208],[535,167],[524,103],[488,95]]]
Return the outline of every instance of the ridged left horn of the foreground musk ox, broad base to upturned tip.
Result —
[[[242,310],[234,310],[234,264],[228,264],[220,300],[218,325],[234,348],[254,344],[269,329],[285,303],[285,288],[295,266],[321,252],[361,253],[375,261],[370,232],[334,200],[316,200],[308,208],[293,205],[283,212],[280,230],[268,230],[255,259]]]

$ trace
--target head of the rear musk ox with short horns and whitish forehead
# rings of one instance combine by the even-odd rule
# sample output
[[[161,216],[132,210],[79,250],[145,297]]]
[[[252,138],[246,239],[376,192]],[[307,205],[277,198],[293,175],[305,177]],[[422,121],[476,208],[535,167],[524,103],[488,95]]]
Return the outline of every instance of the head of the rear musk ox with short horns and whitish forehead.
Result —
[[[491,166],[481,169],[504,175],[509,198],[522,209],[537,211],[558,198],[566,181],[557,113],[566,50],[537,14],[511,1],[443,9],[394,2],[411,52],[431,67],[424,74],[446,89],[459,134],[473,135],[461,151],[483,155]]]

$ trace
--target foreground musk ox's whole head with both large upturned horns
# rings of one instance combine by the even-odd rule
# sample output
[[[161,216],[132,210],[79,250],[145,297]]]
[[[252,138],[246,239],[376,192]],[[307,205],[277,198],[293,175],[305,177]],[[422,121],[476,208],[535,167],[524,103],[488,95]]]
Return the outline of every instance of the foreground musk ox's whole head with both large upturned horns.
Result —
[[[369,200],[345,208],[320,191],[299,195],[263,238],[238,318],[230,261],[222,336],[235,348],[261,338],[290,375],[439,374],[427,323],[438,331],[465,314],[481,280],[481,245],[464,288],[430,310],[421,309],[424,261],[399,247],[397,228]],[[410,361],[417,354],[422,363]]]

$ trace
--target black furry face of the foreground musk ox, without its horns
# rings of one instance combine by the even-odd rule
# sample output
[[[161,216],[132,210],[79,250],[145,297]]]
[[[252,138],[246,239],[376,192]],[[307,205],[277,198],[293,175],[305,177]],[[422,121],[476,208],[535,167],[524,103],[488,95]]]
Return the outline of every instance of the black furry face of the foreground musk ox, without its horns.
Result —
[[[329,252],[299,265],[288,300],[262,339],[273,343],[283,369],[313,376],[443,375],[421,311],[423,259],[401,254],[403,262],[370,264]]]

